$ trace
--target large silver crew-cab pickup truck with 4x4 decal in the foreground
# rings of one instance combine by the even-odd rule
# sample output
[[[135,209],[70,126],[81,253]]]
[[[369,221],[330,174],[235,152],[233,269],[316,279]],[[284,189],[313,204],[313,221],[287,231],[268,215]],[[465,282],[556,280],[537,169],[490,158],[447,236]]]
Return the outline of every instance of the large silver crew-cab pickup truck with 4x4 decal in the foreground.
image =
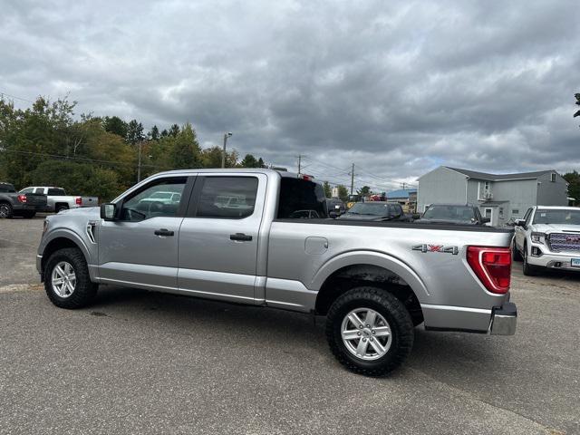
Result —
[[[175,201],[155,201],[176,192]],[[236,198],[227,200],[227,198]],[[312,210],[319,218],[291,218]],[[382,375],[413,327],[513,334],[512,231],[327,218],[322,185],[271,169],[164,172],[101,208],[46,218],[36,264],[53,304],[125,285],[326,316],[336,358]]]

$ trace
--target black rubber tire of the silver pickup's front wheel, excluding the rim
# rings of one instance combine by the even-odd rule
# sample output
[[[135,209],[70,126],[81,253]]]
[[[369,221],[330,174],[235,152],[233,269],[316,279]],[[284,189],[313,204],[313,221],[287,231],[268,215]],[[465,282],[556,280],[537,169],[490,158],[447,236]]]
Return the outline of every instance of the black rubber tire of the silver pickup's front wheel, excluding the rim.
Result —
[[[74,275],[76,276],[74,291],[67,297],[58,295],[53,289],[52,283],[53,269],[63,261],[73,266]],[[98,287],[99,285],[92,283],[87,262],[82,255],[82,251],[77,247],[65,247],[53,252],[48,258],[46,266],[44,266],[44,289],[46,290],[46,295],[48,295],[53,304],[61,308],[73,310],[91,304],[97,294]]]

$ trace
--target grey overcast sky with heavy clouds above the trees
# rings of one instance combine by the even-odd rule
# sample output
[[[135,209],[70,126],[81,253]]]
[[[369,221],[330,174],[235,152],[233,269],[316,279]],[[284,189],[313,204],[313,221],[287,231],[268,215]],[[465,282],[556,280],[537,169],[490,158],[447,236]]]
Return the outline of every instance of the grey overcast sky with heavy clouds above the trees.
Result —
[[[375,189],[441,164],[580,169],[577,0],[0,5],[0,92],[24,100],[190,121],[203,146],[232,131],[242,155],[345,184],[354,163]]]

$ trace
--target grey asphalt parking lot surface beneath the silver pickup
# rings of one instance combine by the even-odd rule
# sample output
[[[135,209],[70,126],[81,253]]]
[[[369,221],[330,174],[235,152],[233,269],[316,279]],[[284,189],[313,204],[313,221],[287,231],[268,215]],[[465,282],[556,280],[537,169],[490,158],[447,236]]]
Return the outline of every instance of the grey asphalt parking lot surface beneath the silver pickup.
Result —
[[[0,433],[580,433],[580,274],[516,265],[515,336],[419,327],[372,379],[303,314],[107,286],[58,309],[42,222],[0,220]]]

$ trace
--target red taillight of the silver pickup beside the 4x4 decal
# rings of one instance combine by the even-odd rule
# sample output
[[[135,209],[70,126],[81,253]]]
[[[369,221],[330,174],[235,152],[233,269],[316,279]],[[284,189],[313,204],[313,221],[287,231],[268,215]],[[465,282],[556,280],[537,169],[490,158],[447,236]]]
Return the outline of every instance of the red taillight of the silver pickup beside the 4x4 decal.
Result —
[[[503,295],[511,280],[511,251],[508,247],[468,247],[469,266],[491,293]]]

